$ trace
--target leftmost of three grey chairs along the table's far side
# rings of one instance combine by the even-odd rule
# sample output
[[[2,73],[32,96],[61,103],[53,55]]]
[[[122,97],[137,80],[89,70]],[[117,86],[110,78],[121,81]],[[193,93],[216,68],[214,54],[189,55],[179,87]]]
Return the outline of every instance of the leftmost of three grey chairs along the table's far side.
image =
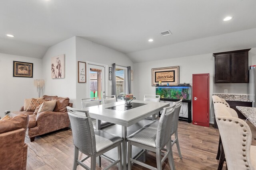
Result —
[[[81,99],[82,108],[100,105],[101,102],[98,99],[99,99],[98,97],[97,98]],[[95,120],[95,119],[93,119],[93,120]],[[109,123],[107,121],[100,121],[100,128],[104,128],[109,125],[113,125],[113,123]],[[96,129],[96,123],[93,124],[93,127],[94,127],[94,129]]]

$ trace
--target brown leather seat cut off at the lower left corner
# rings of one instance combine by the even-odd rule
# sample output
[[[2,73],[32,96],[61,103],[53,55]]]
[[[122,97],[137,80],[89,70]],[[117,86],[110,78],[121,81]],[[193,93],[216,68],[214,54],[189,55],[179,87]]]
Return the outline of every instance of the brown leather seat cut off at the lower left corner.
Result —
[[[24,143],[28,115],[0,120],[0,169],[26,170],[28,145]]]

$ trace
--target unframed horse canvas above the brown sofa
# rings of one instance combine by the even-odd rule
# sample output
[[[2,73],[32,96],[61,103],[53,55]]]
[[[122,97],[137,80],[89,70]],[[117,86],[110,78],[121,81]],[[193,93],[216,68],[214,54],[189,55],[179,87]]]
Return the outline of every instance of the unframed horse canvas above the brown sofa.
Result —
[[[65,55],[52,57],[52,78],[65,78]]]

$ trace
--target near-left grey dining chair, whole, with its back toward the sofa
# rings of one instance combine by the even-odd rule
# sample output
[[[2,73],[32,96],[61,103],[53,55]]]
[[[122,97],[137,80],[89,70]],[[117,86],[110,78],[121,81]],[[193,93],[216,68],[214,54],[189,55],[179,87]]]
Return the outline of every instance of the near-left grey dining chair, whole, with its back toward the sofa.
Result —
[[[69,106],[67,109],[74,143],[73,170],[76,170],[78,165],[82,166],[86,170],[95,170],[96,157],[98,156],[100,156],[100,158],[106,158],[106,160],[112,163],[105,169],[109,169],[110,167],[118,164],[118,169],[122,170],[121,144],[123,139],[105,131],[94,131],[92,119],[88,111],[74,109]],[[104,155],[105,152],[116,147],[118,149],[118,160],[112,160]],[[79,151],[86,154],[87,157],[83,160],[78,160]],[[83,163],[88,158],[91,158],[90,167]]]

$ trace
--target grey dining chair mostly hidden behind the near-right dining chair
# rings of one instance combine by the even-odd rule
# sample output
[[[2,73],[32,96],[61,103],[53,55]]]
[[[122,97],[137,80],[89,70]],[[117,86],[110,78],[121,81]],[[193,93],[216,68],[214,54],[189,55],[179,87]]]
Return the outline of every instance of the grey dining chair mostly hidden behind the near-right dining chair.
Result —
[[[180,144],[179,144],[179,139],[178,139],[178,121],[179,121],[179,115],[180,115],[180,108],[182,105],[182,100],[179,100],[178,102],[174,102],[173,105],[175,105],[175,110],[174,110],[174,114],[172,116],[172,120],[170,121],[170,129],[171,129],[171,149],[172,146],[176,143],[176,147],[178,149],[178,153],[180,156],[180,159],[182,159],[181,156],[181,152],[180,152]],[[158,124],[159,121],[155,120],[152,121],[150,123],[148,123],[147,125],[145,125],[144,127],[149,127],[149,128],[153,128],[153,129],[157,129],[158,128]],[[174,135],[174,139],[172,140],[172,135]],[[173,157],[172,157],[173,159]]]

